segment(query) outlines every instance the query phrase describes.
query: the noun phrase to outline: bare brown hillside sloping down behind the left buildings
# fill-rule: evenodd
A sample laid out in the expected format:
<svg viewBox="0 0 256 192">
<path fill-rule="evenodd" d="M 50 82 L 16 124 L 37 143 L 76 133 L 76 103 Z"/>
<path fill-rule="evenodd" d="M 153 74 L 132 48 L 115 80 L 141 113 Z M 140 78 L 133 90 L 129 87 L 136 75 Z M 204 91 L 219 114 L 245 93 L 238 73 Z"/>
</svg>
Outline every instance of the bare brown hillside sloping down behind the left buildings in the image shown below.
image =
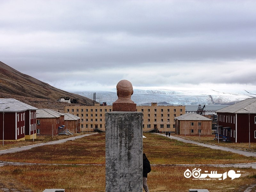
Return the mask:
<svg viewBox="0 0 256 192">
<path fill-rule="evenodd" d="M 75 105 L 57 101 L 64 96 L 79 99 L 78 105 L 93 105 L 93 100 L 87 97 L 57 89 L 0 61 L 0 98 L 14 98 L 36 108 L 63 112 L 65 105 Z"/>
</svg>

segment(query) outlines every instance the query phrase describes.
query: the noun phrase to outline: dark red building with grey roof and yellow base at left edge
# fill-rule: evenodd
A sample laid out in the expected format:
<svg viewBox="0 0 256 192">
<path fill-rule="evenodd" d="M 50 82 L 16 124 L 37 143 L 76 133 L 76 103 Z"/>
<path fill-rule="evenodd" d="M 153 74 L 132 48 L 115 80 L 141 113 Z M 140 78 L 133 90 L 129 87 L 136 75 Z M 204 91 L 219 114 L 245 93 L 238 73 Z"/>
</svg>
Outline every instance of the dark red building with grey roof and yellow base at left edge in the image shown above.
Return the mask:
<svg viewBox="0 0 256 192">
<path fill-rule="evenodd" d="M 0 99 L 0 139 L 36 139 L 36 109 L 15 99 Z M 33 134 L 34 133 L 34 134 Z"/>
</svg>

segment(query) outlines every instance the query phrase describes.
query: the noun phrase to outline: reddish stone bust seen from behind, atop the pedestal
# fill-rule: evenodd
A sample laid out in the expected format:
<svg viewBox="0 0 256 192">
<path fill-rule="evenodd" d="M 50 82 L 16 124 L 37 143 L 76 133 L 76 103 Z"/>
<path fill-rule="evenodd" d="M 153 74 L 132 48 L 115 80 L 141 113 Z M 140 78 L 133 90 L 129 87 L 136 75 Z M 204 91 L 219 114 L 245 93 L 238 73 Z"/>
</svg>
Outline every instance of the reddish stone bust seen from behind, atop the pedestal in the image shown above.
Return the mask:
<svg viewBox="0 0 256 192">
<path fill-rule="evenodd" d="M 130 81 L 119 81 L 116 93 L 118 99 L 113 103 L 113 111 L 136 111 L 136 104 L 131 100 L 133 87 Z"/>
</svg>

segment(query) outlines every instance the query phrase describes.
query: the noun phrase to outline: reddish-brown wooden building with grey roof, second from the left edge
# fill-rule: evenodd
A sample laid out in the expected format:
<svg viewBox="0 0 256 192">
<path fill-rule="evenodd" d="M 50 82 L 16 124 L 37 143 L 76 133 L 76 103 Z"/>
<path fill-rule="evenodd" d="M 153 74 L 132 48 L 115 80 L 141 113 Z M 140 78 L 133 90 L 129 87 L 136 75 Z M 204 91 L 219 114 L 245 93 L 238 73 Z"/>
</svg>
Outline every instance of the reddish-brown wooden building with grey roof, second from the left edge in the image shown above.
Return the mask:
<svg viewBox="0 0 256 192">
<path fill-rule="evenodd" d="M 38 109 L 36 114 L 37 135 L 58 135 L 65 129 L 64 114 L 52 109 Z"/>
</svg>

